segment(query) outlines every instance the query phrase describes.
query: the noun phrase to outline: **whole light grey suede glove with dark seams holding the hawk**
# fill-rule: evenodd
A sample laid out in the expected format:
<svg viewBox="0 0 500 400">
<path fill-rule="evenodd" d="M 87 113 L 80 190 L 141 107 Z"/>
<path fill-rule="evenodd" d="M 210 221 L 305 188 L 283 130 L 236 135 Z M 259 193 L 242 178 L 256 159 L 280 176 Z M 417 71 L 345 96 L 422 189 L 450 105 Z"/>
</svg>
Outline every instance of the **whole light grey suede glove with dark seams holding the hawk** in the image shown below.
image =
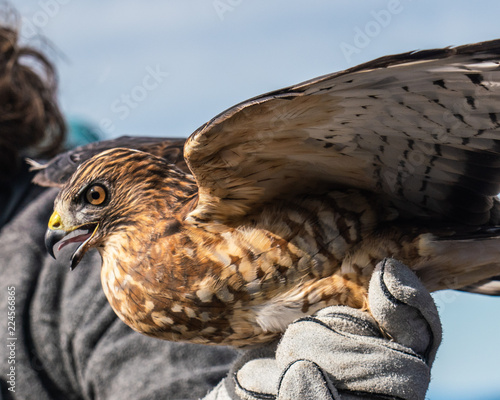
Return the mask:
<svg viewBox="0 0 500 400">
<path fill-rule="evenodd" d="M 408 267 L 379 263 L 367 312 L 327 307 L 280 343 L 247 351 L 205 400 L 420 400 L 441 342 L 432 297 Z"/>
</svg>

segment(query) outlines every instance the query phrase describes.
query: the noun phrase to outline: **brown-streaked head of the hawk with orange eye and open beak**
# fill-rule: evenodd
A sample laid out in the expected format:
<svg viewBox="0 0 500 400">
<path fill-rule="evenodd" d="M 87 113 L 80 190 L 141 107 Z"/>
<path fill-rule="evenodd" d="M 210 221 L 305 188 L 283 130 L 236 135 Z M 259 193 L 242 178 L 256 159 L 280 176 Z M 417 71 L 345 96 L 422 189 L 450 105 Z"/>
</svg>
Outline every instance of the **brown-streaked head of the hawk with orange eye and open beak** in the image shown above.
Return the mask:
<svg viewBox="0 0 500 400">
<path fill-rule="evenodd" d="M 54 203 L 45 244 L 54 256 L 70 243 L 81 243 L 71 258 L 71 269 L 91 247 L 100 247 L 109 234 L 153 223 L 158 212 L 176 212 L 196 193 L 189 175 L 152 154 L 116 148 L 85 163 L 64 185 Z"/>
</svg>

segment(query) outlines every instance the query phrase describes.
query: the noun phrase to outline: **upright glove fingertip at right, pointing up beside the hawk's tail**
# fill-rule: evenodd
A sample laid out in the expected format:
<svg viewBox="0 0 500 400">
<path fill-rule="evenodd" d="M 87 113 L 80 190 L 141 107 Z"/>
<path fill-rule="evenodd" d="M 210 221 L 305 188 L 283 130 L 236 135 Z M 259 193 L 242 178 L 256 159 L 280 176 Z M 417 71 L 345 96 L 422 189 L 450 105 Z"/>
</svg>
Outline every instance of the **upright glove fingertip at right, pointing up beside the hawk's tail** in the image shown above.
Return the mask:
<svg viewBox="0 0 500 400">
<path fill-rule="evenodd" d="M 392 339 L 432 365 L 442 336 L 439 314 L 427 289 L 406 265 L 393 259 L 380 262 L 370 281 L 368 302 Z"/>
</svg>

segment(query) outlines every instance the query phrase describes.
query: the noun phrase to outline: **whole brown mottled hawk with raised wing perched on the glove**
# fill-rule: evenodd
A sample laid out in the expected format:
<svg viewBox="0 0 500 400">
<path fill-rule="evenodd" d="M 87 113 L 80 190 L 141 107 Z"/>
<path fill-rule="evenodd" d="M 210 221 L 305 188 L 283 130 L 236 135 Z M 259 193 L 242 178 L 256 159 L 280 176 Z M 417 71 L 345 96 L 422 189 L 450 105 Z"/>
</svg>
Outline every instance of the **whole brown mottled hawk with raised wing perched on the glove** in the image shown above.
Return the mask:
<svg viewBox="0 0 500 400">
<path fill-rule="evenodd" d="M 182 152 L 183 146 L 183 152 Z M 242 102 L 183 144 L 63 154 L 51 253 L 102 256 L 144 334 L 248 346 L 335 304 L 369 309 L 394 257 L 430 291 L 500 294 L 500 40 L 386 56 Z M 57 245 L 57 246 L 56 246 Z"/>
</svg>

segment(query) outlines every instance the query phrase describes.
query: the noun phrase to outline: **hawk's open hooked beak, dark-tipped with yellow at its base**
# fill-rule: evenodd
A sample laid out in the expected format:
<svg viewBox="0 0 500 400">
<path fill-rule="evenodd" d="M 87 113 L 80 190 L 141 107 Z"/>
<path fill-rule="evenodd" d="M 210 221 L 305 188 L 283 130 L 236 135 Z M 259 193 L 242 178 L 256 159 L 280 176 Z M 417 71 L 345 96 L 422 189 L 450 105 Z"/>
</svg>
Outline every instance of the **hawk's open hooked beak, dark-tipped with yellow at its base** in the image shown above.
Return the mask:
<svg viewBox="0 0 500 400">
<path fill-rule="evenodd" d="M 58 252 L 70 243 L 81 243 L 71 256 L 70 269 L 73 270 L 89 249 L 90 239 L 94 236 L 98 226 L 99 224 L 96 222 L 66 228 L 62 224 L 60 215 L 57 211 L 54 211 L 49 220 L 49 229 L 47 229 L 47 232 L 45 233 L 45 247 L 47 248 L 49 254 L 53 258 L 56 258 L 54 254 L 54 248 L 56 246 L 56 252 Z"/>
</svg>

